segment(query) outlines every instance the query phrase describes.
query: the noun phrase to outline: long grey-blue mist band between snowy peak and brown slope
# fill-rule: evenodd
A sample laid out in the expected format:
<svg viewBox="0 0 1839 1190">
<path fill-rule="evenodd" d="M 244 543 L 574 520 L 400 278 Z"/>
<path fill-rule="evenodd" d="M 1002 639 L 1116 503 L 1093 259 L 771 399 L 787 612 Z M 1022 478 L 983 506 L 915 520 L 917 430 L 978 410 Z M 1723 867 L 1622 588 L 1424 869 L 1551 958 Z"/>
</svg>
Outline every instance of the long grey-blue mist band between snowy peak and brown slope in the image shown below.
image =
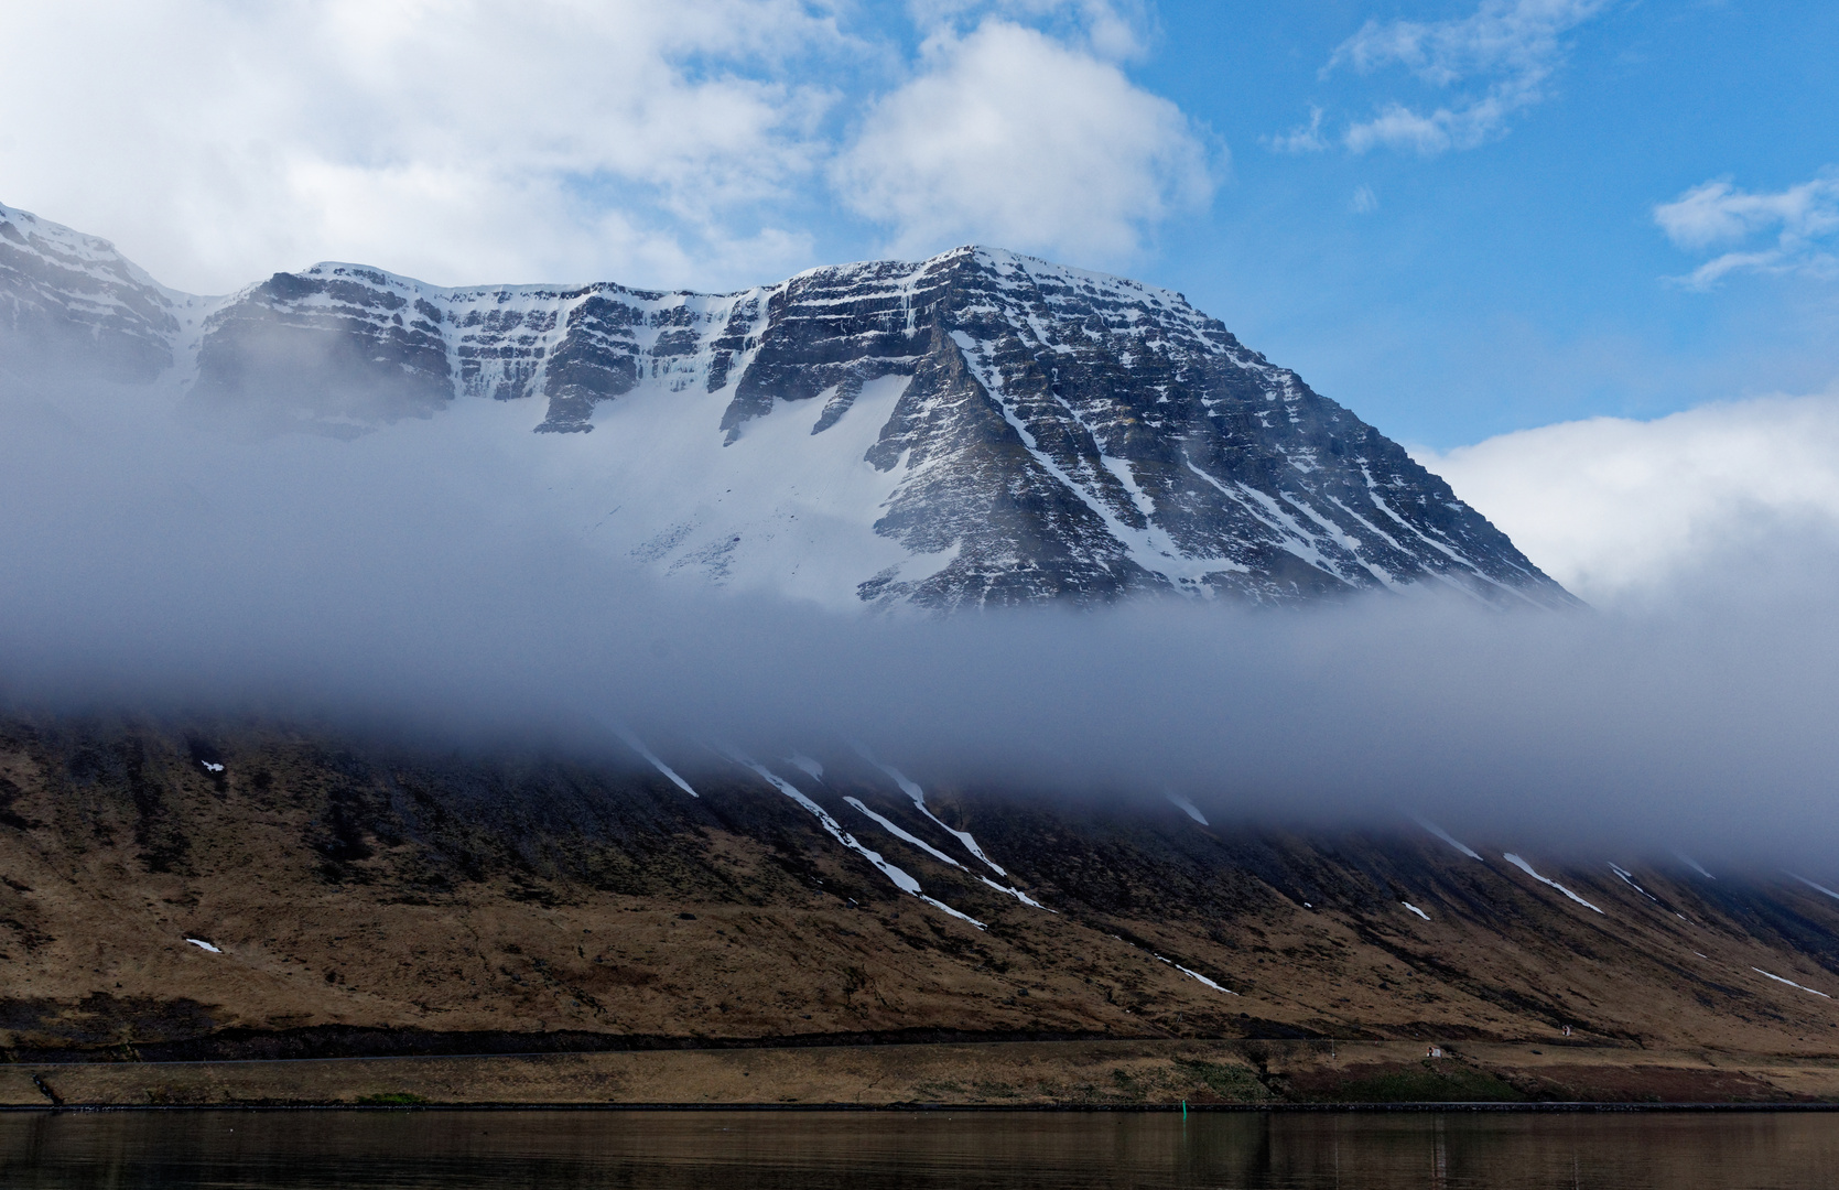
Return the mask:
<svg viewBox="0 0 1839 1190">
<path fill-rule="evenodd" d="M 70 267 L 90 276 L 90 265 Z M 83 309 L 114 316 L 107 285 L 116 281 L 99 278 Z M 68 278 L 59 283 L 70 291 Z M 270 313 L 307 318 L 337 305 L 320 298 L 305 313 L 285 302 Z M 984 348 L 945 340 L 964 370 L 977 359 L 1004 366 Z M 522 399 L 454 397 L 427 418 L 355 419 L 349 436 L 278 432 L 263 418 L 223 416 L 197 386 L 140 375 L 77 383 L 55 359 L 48 368 L 9 351 L 0 401 L 0 682 L 17 704 L 329 715 L 482 747 L 546 739 L 633 763 L 616 725 L 671 756 L 706 745 L 785 756 L 862 741 L 927 778 L 1068 796 L 1173 789 L 1300 822 L 1418 809 L 1458 828 L 1578 846 L 1690 846 L 1749 863 L 1808 864 L 1839 837 L 1830 809 L 1839 627 L 1828 612 L 1839 550 L 1817 533 L 1727 543 L 1640 611 L 1554 614 L 1515 596 L 1506 603 L 1523 611 L 1502 612 L 1473 594 L 1567 600 L 1543 576 L 1523 587 L 1484 581 L 1444 555 L 1445 570 L 1422 572 L 1427 581 L 1374 579 L 1365 585 L 1374 596 L 1313 611 L 1289 600 L 1175 598 L 1100 611 L 1107 600 L 1074 598 L 943 620 L 861 616 L 796 598 L 835 590 L 837 574 L 817 574 L 805 589 L 789 581 L 787 598 L 767 583 L 679 581 L 682 572 L 657 557 L 625 543 L 609 548 L 620 508 L 603 506 L 607 456 L 594 451 L 631 421 L 531 434 Z M 824 434 L 853 432 L 850 418 L 864 403 L 905 401 L 892 390 L 877 397 L 879 384 L 918 384 L 901 379 L 910 362 L 896 368 L 892 355 L 855 360 L 888 372 L 862 379 Z M 171 368 L 180 366 L 175 357 Z M 736 445 L 710 449 L 741 458 L 750 436 L 771 445 L 763 427 L 793 425 L 776 421 L 789 408 L 802 410 L 798 432 L 780 445 L 820 441 L 804 419 L 828 416 L 820 405 L 835 403 L 851 375 L 862 377 L 842 375 L 822 403 L 822 388 L 802 403 L 769 392 L 728 427 L 741 430 Z M 745 405 L 739 381 L 710 394 L 704 379 L 686 392 Z M 554 418 L 555 394 L 548 399 Z M 1346 416 L 1319 397 L 1298 401 L 1298 419 Z M 704 429 L 723 441 L 719 425 Z M 1013 441 L 989 458 L 1004 467 L 1059 458 L 1043 440 L 1024 447 L 1008 414 L 1002 430 Z M 634 441 L 640 465 L 647 445 Z M 864 441 L 883 440 L 868 434 L 851 449 Z M 1330 447 L 1315 458 L 1333 458 Z M 782 458 L 793 462 L 776 478 L 809 478 L 796 456 Z M 1078 482 L 1061 467 L 1054 484 L 1091 495 L 1103 475 L 1118 484 L 1149 475 L 1113 463 L 1120 456 L 1096 456 Z M 923 484 L 938 463 L 901 475 Z M 642 473 L 631 491 L 644 497 L 655 480 Z M 1341 498 L 1333 486 L 1298 491 Z M 1313 497 L 1296 500 L 1296 509 L 1319 508 Z M 1052 509 L 1035 511 L 1037 524 L 1056 524 Z M 712 524 L 726 522 L 712 513 Z M 1341 533 L 1317 528 L 1278 539 L 1302 550 Z M 1076 526 L 1068 533 L 1059 541 L 1079 541 Z M 793 578 L 822 572 L 839 554 L 822 533 L 809 541 L 809 552 L 774 565 Z M 1363 554 L 1365 539 L 1346 541 L 1348 559 L 1376 557 Z M 1133 572 L 1114 561 L 1089 574 L 1122 583 Z M 1526 572 L 1537 576 L 1532 563 Z M 1010 574 L 1035 581 L 1072 570 L 1028 563 Z"/>
</svg>

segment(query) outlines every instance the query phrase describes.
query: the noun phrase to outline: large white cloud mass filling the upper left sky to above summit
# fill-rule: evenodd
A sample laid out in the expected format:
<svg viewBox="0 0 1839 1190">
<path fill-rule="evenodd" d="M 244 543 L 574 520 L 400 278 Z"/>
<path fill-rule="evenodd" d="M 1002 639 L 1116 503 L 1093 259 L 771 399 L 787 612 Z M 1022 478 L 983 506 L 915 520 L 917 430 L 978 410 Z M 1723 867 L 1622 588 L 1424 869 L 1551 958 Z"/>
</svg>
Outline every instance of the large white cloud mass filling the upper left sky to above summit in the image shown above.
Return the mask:
<svg viewBox="0 0 1839 1190">
<path fill-rule="evenodd" d="M 850 0 L 11 6 L 0 199 L 197 292 L 318 259 L 728 289 L 872 234 L 846 210 L 1118 259 L 1206 200 L 1122 70 L 1144 0 L 908 15 L 918 59 Z"/>
</svg>

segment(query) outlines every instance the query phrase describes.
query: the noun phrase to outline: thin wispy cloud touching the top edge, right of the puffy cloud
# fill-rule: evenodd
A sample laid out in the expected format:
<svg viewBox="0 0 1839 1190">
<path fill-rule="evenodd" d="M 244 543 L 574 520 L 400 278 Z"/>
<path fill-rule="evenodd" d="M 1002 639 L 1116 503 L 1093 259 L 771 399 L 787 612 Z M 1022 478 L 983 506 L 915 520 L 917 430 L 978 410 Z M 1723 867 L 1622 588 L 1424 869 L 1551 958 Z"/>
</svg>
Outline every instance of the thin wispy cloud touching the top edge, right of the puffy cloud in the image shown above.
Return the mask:
<svg viewBox="0 0 1839 1190">
<path fill-rule="evenodd" d="M 1460 20 L 1368 20 L 1328 59 L 1322 74 L 1350 66 L 1372 74 L 1403 66 L 1431 86 L 1466 90 L 1431 110 L 1399 101 L 1352 123 L 1342 143 L 1434 156 L 1473 149 L 1506 132 L 1508 118 L 1545 99 L 1547 81 L 1563 63 L 1563 35 L 1596 17 L 1609 0 L 1484 0 Z"/>
</svg>

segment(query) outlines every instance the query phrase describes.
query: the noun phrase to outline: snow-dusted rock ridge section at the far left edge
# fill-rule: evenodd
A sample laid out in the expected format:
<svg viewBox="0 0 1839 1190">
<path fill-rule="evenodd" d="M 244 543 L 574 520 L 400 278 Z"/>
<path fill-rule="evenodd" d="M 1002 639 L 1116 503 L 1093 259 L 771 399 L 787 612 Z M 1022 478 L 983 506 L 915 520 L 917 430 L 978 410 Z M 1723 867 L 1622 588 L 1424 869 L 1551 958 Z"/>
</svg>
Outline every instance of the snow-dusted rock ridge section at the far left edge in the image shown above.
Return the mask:
<svg viewBox="0 0 1839 1190">
<path fill-rule="evenodd" d="M 145 384 L 173 366 L 175 305 L 109 241 L 0 206 L 0 368 Z"/>
</svg>

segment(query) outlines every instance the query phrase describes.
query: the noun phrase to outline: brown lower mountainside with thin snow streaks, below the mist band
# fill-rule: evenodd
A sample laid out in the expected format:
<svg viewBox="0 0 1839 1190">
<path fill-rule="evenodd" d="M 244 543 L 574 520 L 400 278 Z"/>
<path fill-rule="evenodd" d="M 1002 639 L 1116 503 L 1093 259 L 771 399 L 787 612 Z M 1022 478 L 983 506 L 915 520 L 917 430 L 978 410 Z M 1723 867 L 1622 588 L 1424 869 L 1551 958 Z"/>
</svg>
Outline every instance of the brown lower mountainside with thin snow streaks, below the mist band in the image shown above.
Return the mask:
<svg viewBox="0 0 1839 1190">
<path fill-rule="evenodd" d="M 0 725 L 0 1047 L 1839 1037 L 1839 899 L 1780 874 L 669 760 Z"/>
</svg>

